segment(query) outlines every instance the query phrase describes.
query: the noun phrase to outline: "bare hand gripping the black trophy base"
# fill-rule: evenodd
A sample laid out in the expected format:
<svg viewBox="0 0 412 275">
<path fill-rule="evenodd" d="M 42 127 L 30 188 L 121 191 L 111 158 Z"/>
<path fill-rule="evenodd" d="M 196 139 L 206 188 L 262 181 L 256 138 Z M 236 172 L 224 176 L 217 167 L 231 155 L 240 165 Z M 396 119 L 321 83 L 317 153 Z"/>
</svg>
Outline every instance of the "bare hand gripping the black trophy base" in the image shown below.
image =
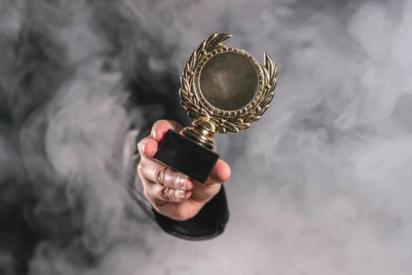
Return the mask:
<svg viewBox="0 0 412 275">
<path fill-rule="evenodd" d="M 180 132 L 183 127 L 177 122 L 159 120 L 152 126 L 152 132 L 139 142 L 141 161 L 137 173 L 144 186 L 144 194 L 153 208 L 170 219 L 190 219 L 210 201 L 230 177 L 226 162 L 218 160 L 206 184 L 200 184 L 190 177 L 156 162 L 153 157 L 169 129 Z"/>
</svg>

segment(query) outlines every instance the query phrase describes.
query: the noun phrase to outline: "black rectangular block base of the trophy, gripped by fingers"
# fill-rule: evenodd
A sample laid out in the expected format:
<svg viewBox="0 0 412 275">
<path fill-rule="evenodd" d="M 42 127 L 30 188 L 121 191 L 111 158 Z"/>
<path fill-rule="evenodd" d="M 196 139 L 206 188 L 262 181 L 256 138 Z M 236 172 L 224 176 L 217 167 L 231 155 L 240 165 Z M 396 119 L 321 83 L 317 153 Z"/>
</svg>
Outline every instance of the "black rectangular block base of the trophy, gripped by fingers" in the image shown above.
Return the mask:
<svg viewBox="0 0 412 275">
<path fill-rule="evenodd" d="M 159 162 L 205 184 L 219 155 L 189 138 L 169 130 L 155 155 Z"/>
</svg>

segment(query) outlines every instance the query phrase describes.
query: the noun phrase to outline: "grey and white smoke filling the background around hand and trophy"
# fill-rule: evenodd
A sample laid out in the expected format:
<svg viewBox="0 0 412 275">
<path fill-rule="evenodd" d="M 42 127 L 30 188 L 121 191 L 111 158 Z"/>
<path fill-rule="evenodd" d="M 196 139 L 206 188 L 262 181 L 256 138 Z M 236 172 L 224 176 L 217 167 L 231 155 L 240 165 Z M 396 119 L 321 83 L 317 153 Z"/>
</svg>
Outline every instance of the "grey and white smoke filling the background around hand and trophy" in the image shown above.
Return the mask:
<svg viewBox="0 0 412 275">
<path fill-rule="evenodd" d="M 411 14 L 407 0 L 0 1 L 0 273 L 409 274 Z M 217 137 L 231 220 L 191 243 L 130 199 L 122 143 L 132 124 L 185 119 L 179 75 L 213 32 L 271 54 L 279 83 L 262 120 Z"/>
</svg>

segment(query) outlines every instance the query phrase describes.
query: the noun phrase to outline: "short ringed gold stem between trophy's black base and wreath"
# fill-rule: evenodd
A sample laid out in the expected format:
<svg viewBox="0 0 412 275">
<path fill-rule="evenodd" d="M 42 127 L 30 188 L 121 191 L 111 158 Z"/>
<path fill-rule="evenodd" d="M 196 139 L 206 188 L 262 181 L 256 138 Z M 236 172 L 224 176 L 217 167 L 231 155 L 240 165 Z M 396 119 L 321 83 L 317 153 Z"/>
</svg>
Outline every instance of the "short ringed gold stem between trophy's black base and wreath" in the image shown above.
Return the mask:
<svg viewBox="0 0 412 275">
<path fill-rule="evenodd" d="M 216 152 L 216 142 L 213 137 L 216 133 L 216 127 L 209 120 L 203 118 L 192 123 L 192 127 L 185 127 L 181 134 L 197 144 Z"/>
</svg>

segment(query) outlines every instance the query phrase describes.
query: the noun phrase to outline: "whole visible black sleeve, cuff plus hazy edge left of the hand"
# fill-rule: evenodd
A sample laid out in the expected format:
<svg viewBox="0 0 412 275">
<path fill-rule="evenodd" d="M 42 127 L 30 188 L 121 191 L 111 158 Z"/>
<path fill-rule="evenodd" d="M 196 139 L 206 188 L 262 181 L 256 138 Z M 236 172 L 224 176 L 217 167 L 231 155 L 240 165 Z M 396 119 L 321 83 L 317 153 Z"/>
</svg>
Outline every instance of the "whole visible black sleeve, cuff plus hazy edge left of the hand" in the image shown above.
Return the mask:
<svg viewBox="0 0 412 275">
<path fill-rule="evenodd" d="M 128 155 L 127 152 L 130 152 L 136 147 L 136 133 L 134 134 L 133 131 L 131 131 L 126 138 L 124 146 L 125 155 Z M 126 159 L 125 162 L 128 163 L 126 173 L 128 174 L 130 190 L 135 201 L 157 222 L 161 229 L 168 234 L 190 241 L 213 239 L 222 234 L 225 230 L 227 221 L 229 220 L 229 210 L 225 188 L 223 186 L 218 194 L 206 203 L 195 217 L 186 221 L 175 221 L 163 216 L 152 208 L 152 205 L 144 195 L 143 185 L 141 184 L 139 177 L 136 175 L 139 159 L 140 157 L 137 153 L 133 155 L 133 157 L 130 155 L 130 160 L 128 161 Z"/>
</svg>

